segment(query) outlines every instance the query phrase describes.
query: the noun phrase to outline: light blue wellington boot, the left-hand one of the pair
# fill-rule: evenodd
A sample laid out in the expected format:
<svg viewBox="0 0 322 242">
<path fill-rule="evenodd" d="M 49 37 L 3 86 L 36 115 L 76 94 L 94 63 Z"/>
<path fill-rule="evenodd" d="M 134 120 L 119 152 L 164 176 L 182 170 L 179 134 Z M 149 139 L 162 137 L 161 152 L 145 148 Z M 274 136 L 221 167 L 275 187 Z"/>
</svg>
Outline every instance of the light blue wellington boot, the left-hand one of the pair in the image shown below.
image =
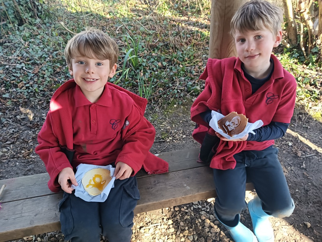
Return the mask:
<svg viewBox="0 0 322 242">
<path fill-rule="evenodd" d="M 216 216 L 218 219 L 218 216 Z M 219 220 L 219 219 L 218 219 Z M 235 242 L 257 242 L 256 236 L 250 229 L 246 228 L 240 221 L 235 227 L 229 227 L 219 220 L 229 231 L 230 236 Z"/>
</svg>

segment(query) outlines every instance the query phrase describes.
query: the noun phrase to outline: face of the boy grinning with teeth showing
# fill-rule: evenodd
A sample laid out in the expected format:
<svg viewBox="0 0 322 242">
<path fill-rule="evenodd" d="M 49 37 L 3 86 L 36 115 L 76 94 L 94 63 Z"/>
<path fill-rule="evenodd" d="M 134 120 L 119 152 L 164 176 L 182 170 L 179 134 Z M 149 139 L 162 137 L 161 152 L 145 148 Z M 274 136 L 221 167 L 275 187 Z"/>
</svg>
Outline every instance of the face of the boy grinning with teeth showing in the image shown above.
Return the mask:
<svg viewBox="0 0 322 242">
<path fill-rule="evenodd" d="M 116 67 L 117 65 L 114 64 L 110 68 L 109 60 L 77 56 L 72 58 L 69 73 L 74 77 L 85 97 L 94 103 L 103 93 L 108 78 L 115 75 Z"/>
</svg>

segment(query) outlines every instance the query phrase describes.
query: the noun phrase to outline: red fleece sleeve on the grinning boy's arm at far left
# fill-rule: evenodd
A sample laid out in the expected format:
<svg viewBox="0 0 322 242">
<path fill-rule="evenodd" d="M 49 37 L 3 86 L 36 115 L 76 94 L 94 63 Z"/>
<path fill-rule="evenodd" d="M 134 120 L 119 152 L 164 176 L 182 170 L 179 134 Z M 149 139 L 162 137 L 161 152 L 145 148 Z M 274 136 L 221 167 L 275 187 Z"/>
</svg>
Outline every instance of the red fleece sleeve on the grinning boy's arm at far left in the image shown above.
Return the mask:
<svg viewBox="0 0 322 242">
<path fill-rule="evenodd" d="M 58 192 L 60 190 L 58 174 L 63 168 L 72 168 L 72 166 L 66 155 L 61 152 L 58 138 L 53 133 L 50 111 L 47 114 L 43 127 L 38 133 L 38 143 L 39 145 L 35 148 L 35 152 L 43 160 L 50 176 L 48 187 L 52 192 Z"/>
</svg>

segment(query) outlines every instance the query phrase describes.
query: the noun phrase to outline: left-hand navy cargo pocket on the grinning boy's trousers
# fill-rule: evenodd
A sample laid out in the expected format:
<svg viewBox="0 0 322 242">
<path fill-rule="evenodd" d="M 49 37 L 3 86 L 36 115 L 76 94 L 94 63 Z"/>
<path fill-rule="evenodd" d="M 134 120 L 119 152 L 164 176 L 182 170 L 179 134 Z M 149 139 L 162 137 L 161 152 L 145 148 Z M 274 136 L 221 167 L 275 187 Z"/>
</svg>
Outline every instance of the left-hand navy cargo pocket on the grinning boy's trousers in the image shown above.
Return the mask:
<svg viewBox="0 0 322 242">
<path fill-rule="evenodd" d="M 59 202 L 58 209 L 60 212 L 60 222 L 62 225 L 62 233 L 67 236 L 71 234 L 74 228 L 74 220 L 71 215 L 71 199 L 70 194 L 65 193 L 62 200 Z"/>
</svg>

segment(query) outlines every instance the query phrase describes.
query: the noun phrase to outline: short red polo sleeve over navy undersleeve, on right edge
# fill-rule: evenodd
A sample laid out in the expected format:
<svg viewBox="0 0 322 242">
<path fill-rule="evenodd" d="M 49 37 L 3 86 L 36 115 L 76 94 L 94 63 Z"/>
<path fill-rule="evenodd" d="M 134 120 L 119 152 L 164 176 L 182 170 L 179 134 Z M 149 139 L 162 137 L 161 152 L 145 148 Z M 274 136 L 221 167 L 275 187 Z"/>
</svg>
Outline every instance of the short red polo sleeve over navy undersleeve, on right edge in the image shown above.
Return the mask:
<svg viewBox="0 0 322 242">
<path fill-rule="evenodd" d="M 290 75 L 290 74 L 289 74 Z M 288 83 L 289 88 L 282 94 L 279 105 L 276 109 L 272 121 L 281 123 L 290 123 L 294 112 L 296 98 L 296 81 L 291 76 L 291 81 Z"/>
</svg>

